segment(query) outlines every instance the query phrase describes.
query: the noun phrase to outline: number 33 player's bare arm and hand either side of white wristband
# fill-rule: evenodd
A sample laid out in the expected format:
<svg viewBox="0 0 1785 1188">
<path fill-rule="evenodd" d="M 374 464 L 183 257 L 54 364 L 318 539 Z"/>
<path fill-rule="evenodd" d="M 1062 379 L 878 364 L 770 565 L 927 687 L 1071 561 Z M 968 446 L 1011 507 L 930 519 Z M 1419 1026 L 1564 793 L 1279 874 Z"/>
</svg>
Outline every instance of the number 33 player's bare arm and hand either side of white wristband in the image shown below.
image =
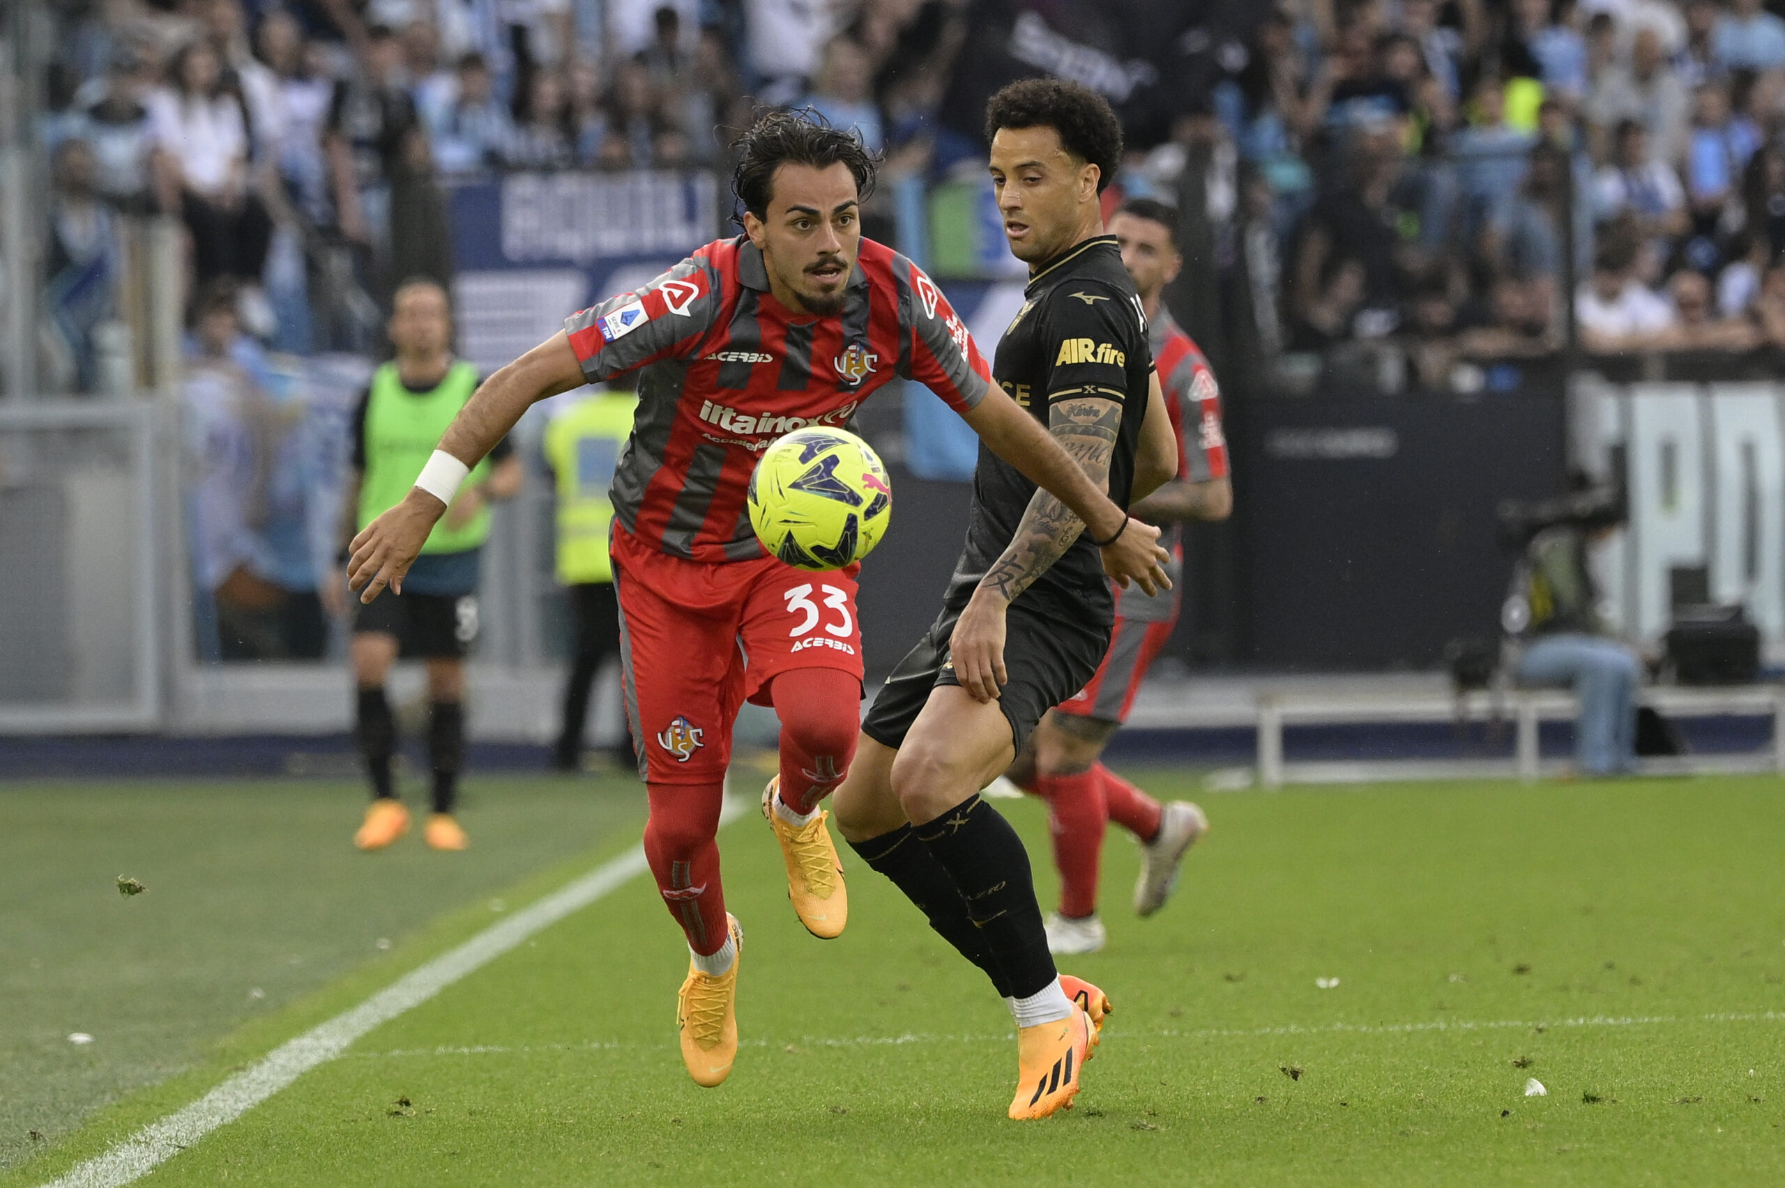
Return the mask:
<svg viewBox="0 0 1785 1188">
<path fill-rule="evenodd" d="M 484 460 L 496 442 L 514 428 L 521 414 L 546 396 L 568 392 L 584 384 L 582 364 L 562 332 L 552 335 L 509 366 L 484 380 L 477 394 L 453 417 L 441 451 L 468 469 Z M 411 487 L 402 503 L 378 516 L 353 537 L 346 564 L 346 583 L 369 603 L 384 587 L 403 592 L 403 574 L 414 564 L 434 524 L 446 514 L 437 496 Z"/>
</svg>

